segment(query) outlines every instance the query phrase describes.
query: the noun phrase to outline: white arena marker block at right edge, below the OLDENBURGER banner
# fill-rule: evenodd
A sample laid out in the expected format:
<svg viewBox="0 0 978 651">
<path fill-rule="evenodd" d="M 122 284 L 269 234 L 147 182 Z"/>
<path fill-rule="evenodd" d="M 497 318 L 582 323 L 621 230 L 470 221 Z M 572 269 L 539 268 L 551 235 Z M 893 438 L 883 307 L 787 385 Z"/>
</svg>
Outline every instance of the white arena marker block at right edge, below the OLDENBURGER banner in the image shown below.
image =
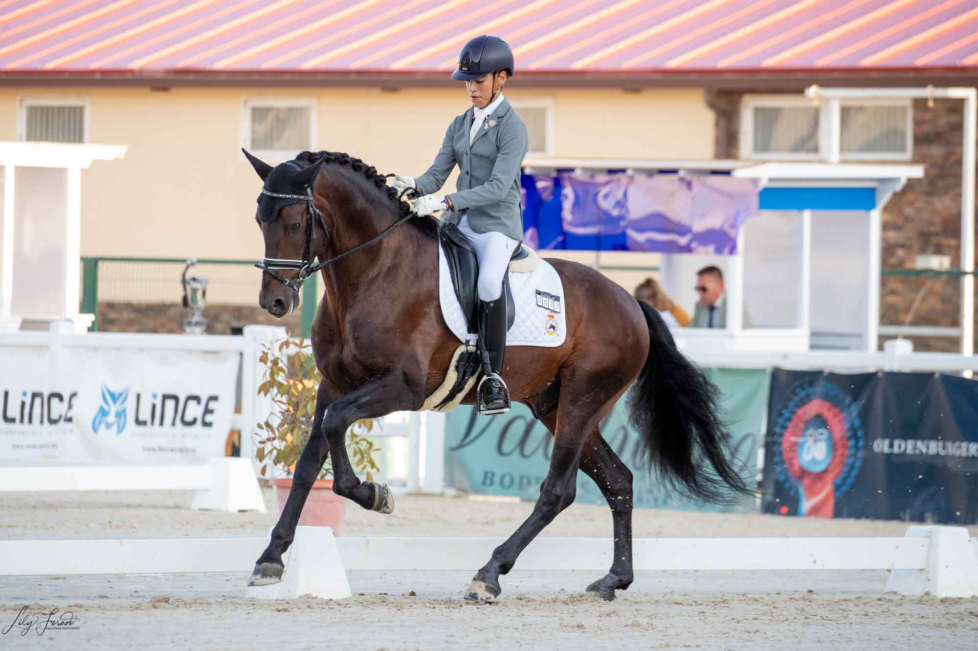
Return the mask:
<svg viewBox="0 0 978 651">
<path fill-rule="evenodd" d="M 938 597 L 978 595 L 978 559 L 963 527 L 913 526 L 907 538 L 929 538 L 927 565 L 921 570 L 894 570 L 887 592 Z"/>
</svg>

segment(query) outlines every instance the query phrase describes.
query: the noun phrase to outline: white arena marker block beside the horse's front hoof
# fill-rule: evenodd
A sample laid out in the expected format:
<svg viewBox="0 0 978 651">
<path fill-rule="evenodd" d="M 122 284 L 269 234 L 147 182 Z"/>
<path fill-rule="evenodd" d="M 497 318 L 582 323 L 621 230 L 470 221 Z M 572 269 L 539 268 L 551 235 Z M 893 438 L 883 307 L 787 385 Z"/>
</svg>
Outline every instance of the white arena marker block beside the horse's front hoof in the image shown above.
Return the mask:
<svg viewBox="0 0 978 651">
<path fill-rule="evenodd" d="M 345 599 L 353 594 L 330 527 L 296 527 L 282 581 L 271 586 L 248 586 L 246 596 L 296 599 L 303 594 L 320 599 Z"/>
</svg>

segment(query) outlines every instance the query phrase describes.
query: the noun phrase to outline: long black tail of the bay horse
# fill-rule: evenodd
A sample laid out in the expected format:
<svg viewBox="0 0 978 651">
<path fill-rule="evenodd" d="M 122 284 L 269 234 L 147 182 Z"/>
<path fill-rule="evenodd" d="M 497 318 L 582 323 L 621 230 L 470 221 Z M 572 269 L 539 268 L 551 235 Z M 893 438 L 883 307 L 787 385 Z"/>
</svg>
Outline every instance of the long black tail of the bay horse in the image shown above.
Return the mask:
<svg viewBox="0 0 978 651">
<path fill-rule="evenodd" d="M 642 455 L 661 481 L 691 498 L 729 503 L 737 494 L 753 495 L 724 454 L 731 437 L 720 418 L 720 389 L 680 352 L 659 313 L 645 301 L 639 305 L 648 357 L 629 410 Z"/>
</svg>

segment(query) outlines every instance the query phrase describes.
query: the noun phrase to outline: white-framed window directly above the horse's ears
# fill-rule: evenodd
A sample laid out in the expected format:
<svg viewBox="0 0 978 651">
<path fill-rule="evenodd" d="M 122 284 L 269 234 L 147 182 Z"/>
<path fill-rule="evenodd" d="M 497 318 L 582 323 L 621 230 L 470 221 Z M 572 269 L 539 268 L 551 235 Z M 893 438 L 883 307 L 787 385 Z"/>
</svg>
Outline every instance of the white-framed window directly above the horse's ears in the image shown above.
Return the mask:
<svg viewBox="0 0 978 651">
<path fill-rule="evenodd" d="M 244 149 L 271 158 L 291 158 L 315 149 L 316 104 L 301 99 L 249 99 L 244 102 Z"/>
</svg>

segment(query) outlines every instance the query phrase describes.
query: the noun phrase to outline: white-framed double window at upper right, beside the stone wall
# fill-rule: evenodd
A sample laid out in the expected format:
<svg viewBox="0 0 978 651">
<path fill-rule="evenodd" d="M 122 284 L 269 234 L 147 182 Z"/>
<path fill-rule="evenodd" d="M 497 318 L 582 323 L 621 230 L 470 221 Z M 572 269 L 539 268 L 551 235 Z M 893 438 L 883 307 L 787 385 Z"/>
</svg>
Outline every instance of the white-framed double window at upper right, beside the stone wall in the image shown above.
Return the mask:
<svg viewBox="0 0 978 651">
<path fill-rule="evenodd" d="M 827 157 L 825 106 L 797 96 L 745 96 L 741 106 L 743 158 L 817 160 Z M 854 100 L 840 105 L 842 160 L 910 160 L 910 100 Z"/>
</svg>

